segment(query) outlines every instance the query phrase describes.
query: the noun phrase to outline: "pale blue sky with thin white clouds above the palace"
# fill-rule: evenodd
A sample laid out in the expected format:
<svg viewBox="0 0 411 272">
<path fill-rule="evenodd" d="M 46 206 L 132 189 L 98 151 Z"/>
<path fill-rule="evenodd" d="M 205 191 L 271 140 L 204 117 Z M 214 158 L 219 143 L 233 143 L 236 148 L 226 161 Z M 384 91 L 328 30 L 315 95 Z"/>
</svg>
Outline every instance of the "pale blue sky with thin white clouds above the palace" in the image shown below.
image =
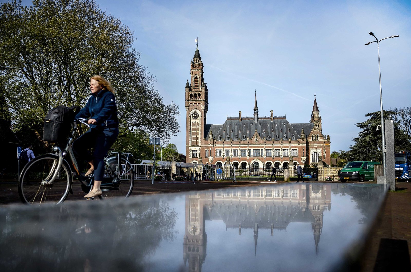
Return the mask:
<svg viewBox="0 0 411 272">
<path fill-rule="evenodd" d="M 29 4 L 30 2 L 23 2 Z M 97 0 L 99 8 L 134 31 L 140 64 L 157 78 L 165 103 L 179 105 L 181 132 L 171 139 L 185 152 L 185 84 L 196 49 L 209 90 L 208 124 L 226 115 L 286 114 L 309 122 L 314 93 L 331 150 L 347 150 L 357 122 L 383 107 L 411 100 L 411 4 L 408 1 L 130 1 Z"/>
</svg>

